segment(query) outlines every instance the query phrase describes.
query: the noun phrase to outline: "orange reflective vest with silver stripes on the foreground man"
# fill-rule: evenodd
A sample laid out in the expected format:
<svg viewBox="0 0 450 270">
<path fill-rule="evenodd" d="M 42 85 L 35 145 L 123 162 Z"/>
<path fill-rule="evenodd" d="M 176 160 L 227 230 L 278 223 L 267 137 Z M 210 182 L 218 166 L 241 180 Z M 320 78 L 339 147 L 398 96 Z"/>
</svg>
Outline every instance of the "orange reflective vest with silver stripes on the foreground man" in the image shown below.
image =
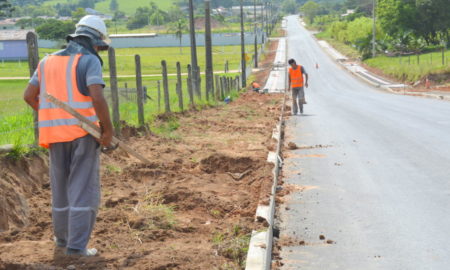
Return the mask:
<svg viewBox="0 0 450 270">
<path fill-rule="evenodd" d="M 70 142 L 88 133 L 79 127 L 79 121 L 43 98 L 47 93 L 67 103 L 81 115 L 97 124 L 98 118 L 92 98 L 80 93 L 77 86 L 76 68 L 81 54 L 69 56 L 50 55 L 38 66 L 40 86 L 39 98 L 39 145 L 49 148 L 50 144 Z"/>
</svg>

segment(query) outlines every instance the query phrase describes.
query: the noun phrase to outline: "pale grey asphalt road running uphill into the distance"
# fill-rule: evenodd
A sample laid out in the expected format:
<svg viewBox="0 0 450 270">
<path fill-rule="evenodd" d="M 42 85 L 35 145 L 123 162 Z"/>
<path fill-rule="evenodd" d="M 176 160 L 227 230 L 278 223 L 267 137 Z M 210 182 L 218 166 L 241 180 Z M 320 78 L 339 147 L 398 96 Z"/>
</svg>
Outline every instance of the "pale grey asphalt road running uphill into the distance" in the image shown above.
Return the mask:
<svg viewBox="0 0 450 270">
<path fill-rule="evenodd" d="M 287 25 L 310 87 L 286 142 L 311 149 L 285 151 L 282 269 L 450 269 L 450 102 L 379 91 Z"/>
</svg>

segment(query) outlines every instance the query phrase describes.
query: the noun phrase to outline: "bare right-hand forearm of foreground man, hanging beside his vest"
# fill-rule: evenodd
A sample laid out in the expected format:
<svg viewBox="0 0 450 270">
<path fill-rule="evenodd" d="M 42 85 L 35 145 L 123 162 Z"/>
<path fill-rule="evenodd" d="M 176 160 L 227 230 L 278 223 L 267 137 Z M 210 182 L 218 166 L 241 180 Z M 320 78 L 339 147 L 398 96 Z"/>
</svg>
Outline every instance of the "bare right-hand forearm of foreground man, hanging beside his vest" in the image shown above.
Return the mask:
<svg viewBox="0 0 450 270">
<path fill-rule="evenodd" d="M 103 86 L 101 84 L 89 85 L 88 90 L 92 98 L 95 113 L 102 125 L 102 135 L 99 141 L 103 146 L 111 146 L 113 126 L 109 116 L 108 103 L 106 103 L 106 99 L 103 96 Z"/>
</svg>

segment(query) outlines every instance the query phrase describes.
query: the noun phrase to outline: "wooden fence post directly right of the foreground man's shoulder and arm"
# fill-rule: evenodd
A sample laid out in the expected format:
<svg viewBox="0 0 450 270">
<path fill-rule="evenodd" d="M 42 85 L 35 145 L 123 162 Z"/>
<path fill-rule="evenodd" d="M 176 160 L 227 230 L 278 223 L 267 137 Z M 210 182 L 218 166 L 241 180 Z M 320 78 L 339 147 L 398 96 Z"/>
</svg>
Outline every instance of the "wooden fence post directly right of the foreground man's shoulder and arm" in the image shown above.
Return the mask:
<svg viewBox="0 0 450 270">
<path fill-rule="evenodd" d="M 108 59 L 113 111 L 112 120 L 114 131 L 116 132 L 117 136 L 120 136 L 119 89 L 117 86 L 116 51 L 113 47 L 109 47 L 108 49 Z"/>
</svg>

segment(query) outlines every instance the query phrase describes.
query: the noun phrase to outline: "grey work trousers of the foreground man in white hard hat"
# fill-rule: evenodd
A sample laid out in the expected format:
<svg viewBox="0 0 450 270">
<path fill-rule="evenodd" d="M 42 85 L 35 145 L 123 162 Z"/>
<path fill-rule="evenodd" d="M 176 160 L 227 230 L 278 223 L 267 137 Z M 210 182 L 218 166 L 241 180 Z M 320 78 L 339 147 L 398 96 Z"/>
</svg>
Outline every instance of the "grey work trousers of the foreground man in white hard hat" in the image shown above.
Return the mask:
<svg viewBox="0 0 450 270">
<path fill-rule="evenodd" d="M 87 135 L 50 145 L 52 218 L 67 248 L 87 247 L 100 204 L 100 147 Z"/>
</svg>

